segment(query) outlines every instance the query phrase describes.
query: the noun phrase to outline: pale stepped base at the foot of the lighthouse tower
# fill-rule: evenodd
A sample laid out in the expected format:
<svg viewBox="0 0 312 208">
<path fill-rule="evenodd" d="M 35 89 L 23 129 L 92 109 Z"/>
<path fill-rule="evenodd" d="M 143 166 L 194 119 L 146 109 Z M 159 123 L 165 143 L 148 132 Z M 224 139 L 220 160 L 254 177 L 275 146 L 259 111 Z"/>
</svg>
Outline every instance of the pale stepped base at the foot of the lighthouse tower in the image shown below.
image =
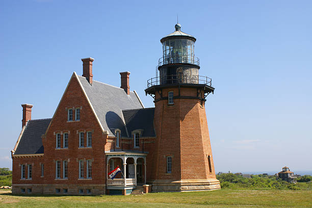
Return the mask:
<svg viewBox="0 0 312 208">
<path fill-rule="evenodd" d="M 153 180 L 152 192 L 212 191 L 221 189 L 220 181 L 212 179 Z"/>
</svg>

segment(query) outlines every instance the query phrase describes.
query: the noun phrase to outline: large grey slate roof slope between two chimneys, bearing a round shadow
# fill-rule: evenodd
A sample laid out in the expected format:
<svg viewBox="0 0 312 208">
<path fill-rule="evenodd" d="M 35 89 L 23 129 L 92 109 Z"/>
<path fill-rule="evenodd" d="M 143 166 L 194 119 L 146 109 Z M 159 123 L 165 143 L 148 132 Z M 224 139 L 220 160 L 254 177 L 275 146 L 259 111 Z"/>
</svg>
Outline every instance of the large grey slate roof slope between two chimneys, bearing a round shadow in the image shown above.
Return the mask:
<svg viewBox="0 0 312 208">
<path fill-rule="evenodd" d="M 122 110 L 143 109 L 137 95 L 132 91 L 127 95 L 122 88 L 94 80 L 90 85 L 86 77 L 79 75 L 77 77 L 104 130 L 109 132 L 109 136 L 114 136 L 115 129 L 119 128 L 121 136 L 127 137 Z M 131 132 L 128 133 L 131 134 Z"/>
</svg>

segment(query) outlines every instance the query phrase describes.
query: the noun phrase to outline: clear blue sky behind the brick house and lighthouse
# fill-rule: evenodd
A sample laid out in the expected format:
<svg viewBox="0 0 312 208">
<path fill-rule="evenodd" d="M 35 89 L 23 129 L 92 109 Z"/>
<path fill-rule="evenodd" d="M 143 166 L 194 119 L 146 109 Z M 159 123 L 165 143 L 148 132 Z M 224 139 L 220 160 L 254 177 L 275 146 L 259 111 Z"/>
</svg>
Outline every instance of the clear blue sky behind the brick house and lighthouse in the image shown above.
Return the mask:
<svg viewBox="0 0 312 208">
<path fill-rule="evenodd" d="M 312 170 L 311 1 L 2 1 L 0 167 L 21 130 L 21 103 L 51 118 L 81 58 L 93 79 L 130 89 L 145 107 L 146 81 L 162 56 L 160 39 L 197 38 L 216 171 Z"/>
</svg>

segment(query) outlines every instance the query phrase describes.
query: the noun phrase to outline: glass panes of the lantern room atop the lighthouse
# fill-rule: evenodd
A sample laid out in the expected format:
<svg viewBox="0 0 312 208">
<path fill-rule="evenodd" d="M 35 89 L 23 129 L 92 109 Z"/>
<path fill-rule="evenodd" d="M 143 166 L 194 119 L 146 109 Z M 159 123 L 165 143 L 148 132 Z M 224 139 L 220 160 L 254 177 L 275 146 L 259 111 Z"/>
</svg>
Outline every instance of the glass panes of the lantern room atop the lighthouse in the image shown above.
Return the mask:
<svg viewBox="0 0 312 208">
<path fill-rule="evenodd" d="M 194 41 L 183 38 L 169 39 L 163 42 L 164 64 L 194 64 Z"/>
</svg>

